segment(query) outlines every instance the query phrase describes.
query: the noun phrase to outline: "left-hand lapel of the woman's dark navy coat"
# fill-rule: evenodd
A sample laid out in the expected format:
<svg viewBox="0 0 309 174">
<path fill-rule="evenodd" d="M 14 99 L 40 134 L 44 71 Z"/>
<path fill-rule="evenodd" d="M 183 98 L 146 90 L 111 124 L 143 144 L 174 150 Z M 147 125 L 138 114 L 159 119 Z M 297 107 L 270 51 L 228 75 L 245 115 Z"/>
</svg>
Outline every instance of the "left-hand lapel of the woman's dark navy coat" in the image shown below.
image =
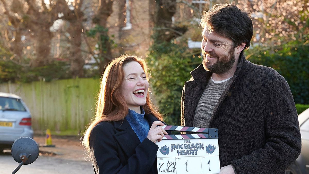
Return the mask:
<svg viewBox="0 0 309 174">
<path fill-rule="evenodd" d="M 115 121 L 114 128 L 119 131 L 115 134 L 116 141 L 118 141 L 122 150 L 129 158 L 135 153 L 135 148 L 141 143 L 141 141 L 131 128 L 127 119 L 123 119 L 123 121 Z"/>
</svg>

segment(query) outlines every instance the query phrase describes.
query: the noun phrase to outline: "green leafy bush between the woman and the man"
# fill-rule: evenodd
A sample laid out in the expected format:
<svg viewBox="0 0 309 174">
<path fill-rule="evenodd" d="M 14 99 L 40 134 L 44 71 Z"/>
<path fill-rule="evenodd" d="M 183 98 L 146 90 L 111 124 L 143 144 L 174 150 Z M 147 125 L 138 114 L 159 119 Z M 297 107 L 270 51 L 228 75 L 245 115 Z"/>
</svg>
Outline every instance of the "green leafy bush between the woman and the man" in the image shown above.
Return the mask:
<svg viewBox="0 0 309 174">
<path fill-rule="evenodd" d="M 191 78 L 190 72 L 201 63 L 185 47 L 163 42 L 150 48 L 146 59 L 150 70 L 150 82 L 156 104 L 170 125 L 180 125 L 180 101 L 184 82 Z M 198 62 L 198 63 L 196 63 Z"/>
</svg>

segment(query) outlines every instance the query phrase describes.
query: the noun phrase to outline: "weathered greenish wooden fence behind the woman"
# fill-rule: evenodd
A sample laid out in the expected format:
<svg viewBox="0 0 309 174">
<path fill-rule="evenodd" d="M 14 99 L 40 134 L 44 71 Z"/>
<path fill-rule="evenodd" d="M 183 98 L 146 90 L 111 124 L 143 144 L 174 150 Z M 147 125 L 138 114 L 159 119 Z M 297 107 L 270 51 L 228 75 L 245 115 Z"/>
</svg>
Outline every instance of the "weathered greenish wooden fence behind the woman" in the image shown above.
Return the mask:
<svg viewBox="0 0 309 174">
<path fill-rule="evenodd" d="M 100 79 L 77 78 L 27 84 L 0 84 L 0 92 L 23 98 L 32 115 L 35 133 L 83 135 L 95 114 Z"/>
</svg>

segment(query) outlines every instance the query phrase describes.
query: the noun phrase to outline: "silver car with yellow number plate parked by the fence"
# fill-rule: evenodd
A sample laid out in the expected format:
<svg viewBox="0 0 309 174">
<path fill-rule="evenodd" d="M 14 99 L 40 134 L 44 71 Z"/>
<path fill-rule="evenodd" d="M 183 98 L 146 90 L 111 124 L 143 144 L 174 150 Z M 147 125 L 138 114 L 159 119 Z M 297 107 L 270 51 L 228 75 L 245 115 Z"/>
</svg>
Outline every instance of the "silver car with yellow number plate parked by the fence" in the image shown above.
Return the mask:
<svg viewBox="0 0 309 174">
<path fill-rule="evenodd" d="M 19 137 L 33 138 L 30 111 L 19 96 L 0 92 L 0 150 Z"/>
</svg>

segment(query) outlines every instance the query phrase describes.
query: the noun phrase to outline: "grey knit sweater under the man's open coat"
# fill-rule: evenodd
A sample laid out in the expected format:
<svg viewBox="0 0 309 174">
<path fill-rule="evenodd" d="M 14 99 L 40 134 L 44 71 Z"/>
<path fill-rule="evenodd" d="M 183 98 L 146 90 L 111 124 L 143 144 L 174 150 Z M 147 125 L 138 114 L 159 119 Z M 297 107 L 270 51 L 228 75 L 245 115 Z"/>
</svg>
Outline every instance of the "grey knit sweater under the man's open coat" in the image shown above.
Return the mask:
<svg viewBox="0 0 309 174">
<path fill-rule="evenodd" d="M 218 103 L 223 91 L 231 83 L 232 79 L 221 83 L 214 83 L 208 80 L 207 86 L 197 104 L 193 126 L 199 128 L 208 128 L 214 108 Z"/>
</svg>

